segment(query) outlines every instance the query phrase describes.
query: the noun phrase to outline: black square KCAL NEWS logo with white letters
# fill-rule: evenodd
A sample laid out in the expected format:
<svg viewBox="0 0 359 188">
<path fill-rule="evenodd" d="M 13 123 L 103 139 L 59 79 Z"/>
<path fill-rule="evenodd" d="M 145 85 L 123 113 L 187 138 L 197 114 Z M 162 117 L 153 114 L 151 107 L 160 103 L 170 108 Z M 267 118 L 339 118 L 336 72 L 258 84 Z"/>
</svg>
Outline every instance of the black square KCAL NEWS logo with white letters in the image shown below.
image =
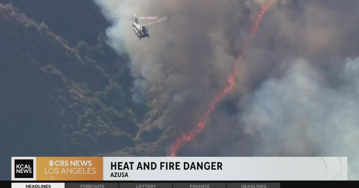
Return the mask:
<svg viewBox="0 0 359 188">
<path fill-rule="evenodd" d="M 14 164 L 15 178 L 34 178 L 33 159 L 15 159 Z"/>
</svg>

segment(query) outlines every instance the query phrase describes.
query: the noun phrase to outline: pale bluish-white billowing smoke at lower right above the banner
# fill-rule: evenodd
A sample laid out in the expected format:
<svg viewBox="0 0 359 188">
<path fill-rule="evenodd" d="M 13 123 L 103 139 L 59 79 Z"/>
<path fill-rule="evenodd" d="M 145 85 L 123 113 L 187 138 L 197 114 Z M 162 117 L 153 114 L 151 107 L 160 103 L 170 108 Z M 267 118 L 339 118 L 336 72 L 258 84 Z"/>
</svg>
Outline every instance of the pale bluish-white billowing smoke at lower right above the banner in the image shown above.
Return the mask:
<svg viewBox="0 0 359 188">
<path fill-rule="evenodd" d="M 240 115 L 260 140 L 253 155 L 348 156 L 349 178 L 358 179 L 359 57 L 346 61 L 338 87 L 303 59 L 291 64 L 262 83 Z"/>
</svg>

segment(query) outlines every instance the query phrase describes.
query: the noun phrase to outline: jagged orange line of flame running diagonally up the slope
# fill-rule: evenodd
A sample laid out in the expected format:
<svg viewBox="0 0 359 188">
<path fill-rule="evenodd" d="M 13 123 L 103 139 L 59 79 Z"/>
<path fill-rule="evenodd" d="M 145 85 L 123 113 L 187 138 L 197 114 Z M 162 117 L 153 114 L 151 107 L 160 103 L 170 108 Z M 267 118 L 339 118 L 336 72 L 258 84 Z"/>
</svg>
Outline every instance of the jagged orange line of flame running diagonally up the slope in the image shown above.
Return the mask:
<svg viewBox="0 0 359 188">
<path fill-rule="evenodd" d="M 248 45 L 252 42 L 252 38 L 253 35 L 255 33 L 258 32 L 259 30 L 259 22 L 260 20 L 263 18 L 263 15 L 266 13 L 266 11 L 268 10 L 268 8 L 271 6 L 271 4 L 274 3 L 274 0 L 270 0 L 267 4 L 265 4 L 262 7 L 261 12 L 258 14 L 253 27 L 251 28 L 251 32 L 250 32 L 250 36 L 247 38 L 246 42 L 243 45 L 243 50 L 241 52 L 241 54 L 239 54 L 239 56 L 237 57 L 237 62 L 236 62 L 236 67 L 234 68 L 232 74 L 230 74 L 229 78 L 228 78 L 228 83 L 229 86 L 226 86 L 215 98 L 214 100 L 210 103 L 208 110 L 206 111 L 206 113 L 203 115 L 202 120 L 197 124 L 197 126 L 195 127 L 194 130 L 192 130 L 191 132 L 188 133 L 183 133 L 182 137 L 179 137 L 176 139 L 176 141 L 174 141 L 170 147 L 171 150 L 171 154 L 168 156 L 177 156 L 177 151 L 180 150 L 183 146 L 183 141 L 191 141 L 197 134 L 199 134 L 201 131 L 203 131 L 206 127 L 207 121 L 209 119 L 209 115 L 214 111 L 215 106 L 217 105 L 217 103 L 228 93 L 230 92 L 235 85 L 235 81 L 236 81 L 236 77 L 238 75 L 238 66 L 237 64 L 239 64 L 242 61 L 242 54 L 244 53 L 244 50 L 246 50 L 248 48 Z"/>
</svg>

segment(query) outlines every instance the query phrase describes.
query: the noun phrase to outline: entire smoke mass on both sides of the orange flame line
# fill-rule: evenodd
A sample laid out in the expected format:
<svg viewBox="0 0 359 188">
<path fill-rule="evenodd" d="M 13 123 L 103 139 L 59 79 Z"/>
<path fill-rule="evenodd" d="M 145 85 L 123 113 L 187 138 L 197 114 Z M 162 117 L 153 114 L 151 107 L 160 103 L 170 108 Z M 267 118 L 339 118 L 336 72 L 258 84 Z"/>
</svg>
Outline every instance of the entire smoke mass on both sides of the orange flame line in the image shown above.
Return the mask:
<svg viewBox="0 0 359 188">
<path fill-rule="evenodd" d="M 266 2 L 95 0 L 112 23 L 108 43 L 131 58 L 133 100 L 145 102 L 152 87 L 169 96 L 158 126 L 174 127 L 172 139 L 228 84 Z M 133 14 L 168 20 L 139 41 Z M 348 156 L 349 178 L 359 179 L 358 33 L 357 0 L 276 1 L 243 54 L 235 89 L 182 154 Z"/>
</svg>

